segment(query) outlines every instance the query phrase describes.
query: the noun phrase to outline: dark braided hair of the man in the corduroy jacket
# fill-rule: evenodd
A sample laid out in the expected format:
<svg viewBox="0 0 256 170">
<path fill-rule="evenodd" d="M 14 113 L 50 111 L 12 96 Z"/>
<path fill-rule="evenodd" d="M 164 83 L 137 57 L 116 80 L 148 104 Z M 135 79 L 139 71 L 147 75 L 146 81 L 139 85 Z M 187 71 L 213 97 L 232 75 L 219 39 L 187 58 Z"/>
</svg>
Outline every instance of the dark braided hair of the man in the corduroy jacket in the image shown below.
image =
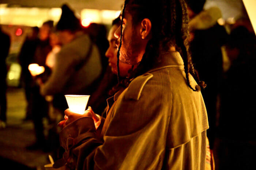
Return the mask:
<svg viewBox="0 0 256 170">
<path fill-rule="evenodd" d="M 127 8 L 127 9 L 126 9 Z M 152 39 L 148 41 L 145 53 L 138 67 L 132 71 L 129 78 L 137 77 L 150 70 L 154 63 L 161 59 L 161 54 L 169 51 L 171 46 L 176 47 L 184 61 L 187 84 L 193 91 L 199 91 L 200 86 L 205 88 L 193 67 L 191 55 L 188 48 L 188 13 L 184 0 L 125 0 L 122 20 L 120 46 L 117 53 L 117 70 L 119 72 L 119 56 L 122 42 L 122 25 L 124 13 L 128 11 L 132 16 L 133 24 L 141 22 L 144 18 L 150 19 L 152 23 Z M 189 73 L 196 79 L 200 86 L 193 89 L 189 82 Z M 119 75 L 119 73 L 118 73 Z M 119 76 L 118 76 L 119 77 Z"/>
</svg>

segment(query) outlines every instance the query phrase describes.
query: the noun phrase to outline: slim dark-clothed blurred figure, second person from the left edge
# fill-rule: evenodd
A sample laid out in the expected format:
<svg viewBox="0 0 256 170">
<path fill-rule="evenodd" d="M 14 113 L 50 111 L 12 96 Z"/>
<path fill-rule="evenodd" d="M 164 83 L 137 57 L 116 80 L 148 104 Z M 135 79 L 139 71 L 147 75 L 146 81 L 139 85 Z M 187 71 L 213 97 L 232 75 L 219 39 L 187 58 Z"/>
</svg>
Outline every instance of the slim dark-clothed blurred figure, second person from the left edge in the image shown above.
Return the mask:
<svg viewBox="0 0 256 170">
<path fill-rule="evenodd" d="M 31 85 L 33 78 L 29 72 L 29 64 L 32 63 L 32 59 L 35 55 L 35 49 L 39 43 L 38 39 L 38 27 L 32 27 L 31 32 L 27 35 L 25 42 L 23 43 L 20 53 L 18 55 L 18 60 L 21 66 L 21 77 L 22 77 L 22 85 L 25 89 L 25 95 L 27 100 L 27 108 L 26 108 L 26 117 L 25 120 L 32 119 L 32 113 L 31 113 Z"/>
</svg>

